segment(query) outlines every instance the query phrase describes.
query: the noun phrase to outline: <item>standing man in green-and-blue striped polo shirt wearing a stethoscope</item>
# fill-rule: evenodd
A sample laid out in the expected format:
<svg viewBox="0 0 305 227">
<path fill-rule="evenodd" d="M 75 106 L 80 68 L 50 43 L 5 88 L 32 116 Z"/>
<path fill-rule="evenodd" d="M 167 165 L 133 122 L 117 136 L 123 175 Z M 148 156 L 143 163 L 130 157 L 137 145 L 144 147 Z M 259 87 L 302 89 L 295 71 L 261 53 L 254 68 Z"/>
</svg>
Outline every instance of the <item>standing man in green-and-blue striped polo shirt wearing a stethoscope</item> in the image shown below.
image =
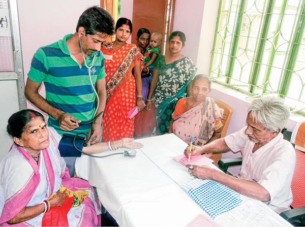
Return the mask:
<svg viewBox="0 0 305 227">
<path fill-rule="evenodd" d="M 89 133 L 88 122 L 104 111 L 106 104 L 104 56 L 101 44 L 113 35 L 114 21 L 100 7 L 85 10 L 78 20 L 76 32 L 56 43 L 41 47 L 35 53 L 25 86 L 25 97 L 42 111 L 48 113 L 48 125 L 59 134 Z M 95 56 L 96 54 L 96 56 Z M 95 56 L 95 57 L 94 57 Z M 96 107 L 96 94 L 100 99 Z M 38 89 L 44 82 L 46 98 Z M 101 137 L 101 115 L 93 125 L 88 144 L 97 143 Z"/>
</svg>

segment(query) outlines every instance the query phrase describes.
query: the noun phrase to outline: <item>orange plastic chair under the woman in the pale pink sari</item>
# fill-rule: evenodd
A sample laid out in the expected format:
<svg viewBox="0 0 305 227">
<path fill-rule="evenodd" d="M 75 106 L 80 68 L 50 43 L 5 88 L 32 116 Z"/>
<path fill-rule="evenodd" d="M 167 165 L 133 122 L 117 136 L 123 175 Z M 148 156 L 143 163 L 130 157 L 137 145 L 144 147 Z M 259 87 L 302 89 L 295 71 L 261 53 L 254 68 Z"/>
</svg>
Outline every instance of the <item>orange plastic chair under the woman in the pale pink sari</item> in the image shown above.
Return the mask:
<svg viewBox="0 0 305 227">
<path fill-rule="evenodd" d="M 224 109 L 223 118 L 221 119 L 223 126 L 221 127 L 221 137 L 220 137 L 220 138 L 223 138 L 227 134 L 233 111 L 227 104 L 225 104 L 219 100 L 214 100 L 214 102 L 217 104 L 217 106 L 219 108 Z M 211 159 L 214 160 L 214 164 L 216 166 L 218 166 L 218 161 L 221 159 L 221 156 L 222 156 L 222 154 L 213 154 L 212 155 Z"/>
</svg>

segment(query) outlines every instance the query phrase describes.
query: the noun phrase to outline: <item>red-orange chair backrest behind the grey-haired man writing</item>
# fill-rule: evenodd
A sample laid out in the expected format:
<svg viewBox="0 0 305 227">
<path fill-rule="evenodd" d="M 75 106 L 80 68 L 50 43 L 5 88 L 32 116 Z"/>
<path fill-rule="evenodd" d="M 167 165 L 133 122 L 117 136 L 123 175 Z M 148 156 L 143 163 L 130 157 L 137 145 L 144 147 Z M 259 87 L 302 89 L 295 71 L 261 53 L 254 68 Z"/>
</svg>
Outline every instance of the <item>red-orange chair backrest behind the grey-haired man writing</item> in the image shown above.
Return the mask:
<svg viewBox="0 0 305 227">
<path fill-rule="evenodd" d="M 295 149 L 296 161 L 291 182 L 293 201 L 292 208 L 305 206 L 305 153 Z"/>
</svg>

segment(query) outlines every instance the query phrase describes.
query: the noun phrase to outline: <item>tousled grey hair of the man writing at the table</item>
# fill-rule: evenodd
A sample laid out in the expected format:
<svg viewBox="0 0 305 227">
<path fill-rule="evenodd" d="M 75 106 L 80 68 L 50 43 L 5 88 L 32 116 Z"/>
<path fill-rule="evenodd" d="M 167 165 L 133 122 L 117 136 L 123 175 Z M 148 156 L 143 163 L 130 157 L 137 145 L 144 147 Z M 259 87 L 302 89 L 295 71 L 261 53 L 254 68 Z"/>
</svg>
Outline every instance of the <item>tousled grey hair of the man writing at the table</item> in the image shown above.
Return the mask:
<svg viewBox="0 0 305 227">
<path fill-rule="evenodd" d="M 248 107 L 250 116 L 256 123 L 264 125 L 268 131 L 281 132 L 290 115 L 290 109 L 284 100 L 265 96 L 253 100 Z"/>
</svg>

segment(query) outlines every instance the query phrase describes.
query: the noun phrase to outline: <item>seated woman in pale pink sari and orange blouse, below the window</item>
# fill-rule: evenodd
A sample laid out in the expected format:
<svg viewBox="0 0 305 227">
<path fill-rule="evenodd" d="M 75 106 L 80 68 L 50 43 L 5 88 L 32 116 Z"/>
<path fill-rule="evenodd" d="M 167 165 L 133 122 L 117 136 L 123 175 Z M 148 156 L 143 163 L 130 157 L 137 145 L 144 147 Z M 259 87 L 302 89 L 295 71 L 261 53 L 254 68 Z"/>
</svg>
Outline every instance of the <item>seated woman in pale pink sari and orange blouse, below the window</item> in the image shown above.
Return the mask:
<svg viewBox="0 0 305 227">
<path fill-rule="evenodd" d="M 191 91 L 191 97 L 182 98 L 177 102 L 172 113 L 169 133 L 174 133 L 188 144 L 193 136 L 193 144 L 202 146 L 220 138 L 224 110 L 215 104 L 214 99 L 207 97 L 211 91 L 211 80 L 208 76 L 195 76 Z"/>
</svg>

